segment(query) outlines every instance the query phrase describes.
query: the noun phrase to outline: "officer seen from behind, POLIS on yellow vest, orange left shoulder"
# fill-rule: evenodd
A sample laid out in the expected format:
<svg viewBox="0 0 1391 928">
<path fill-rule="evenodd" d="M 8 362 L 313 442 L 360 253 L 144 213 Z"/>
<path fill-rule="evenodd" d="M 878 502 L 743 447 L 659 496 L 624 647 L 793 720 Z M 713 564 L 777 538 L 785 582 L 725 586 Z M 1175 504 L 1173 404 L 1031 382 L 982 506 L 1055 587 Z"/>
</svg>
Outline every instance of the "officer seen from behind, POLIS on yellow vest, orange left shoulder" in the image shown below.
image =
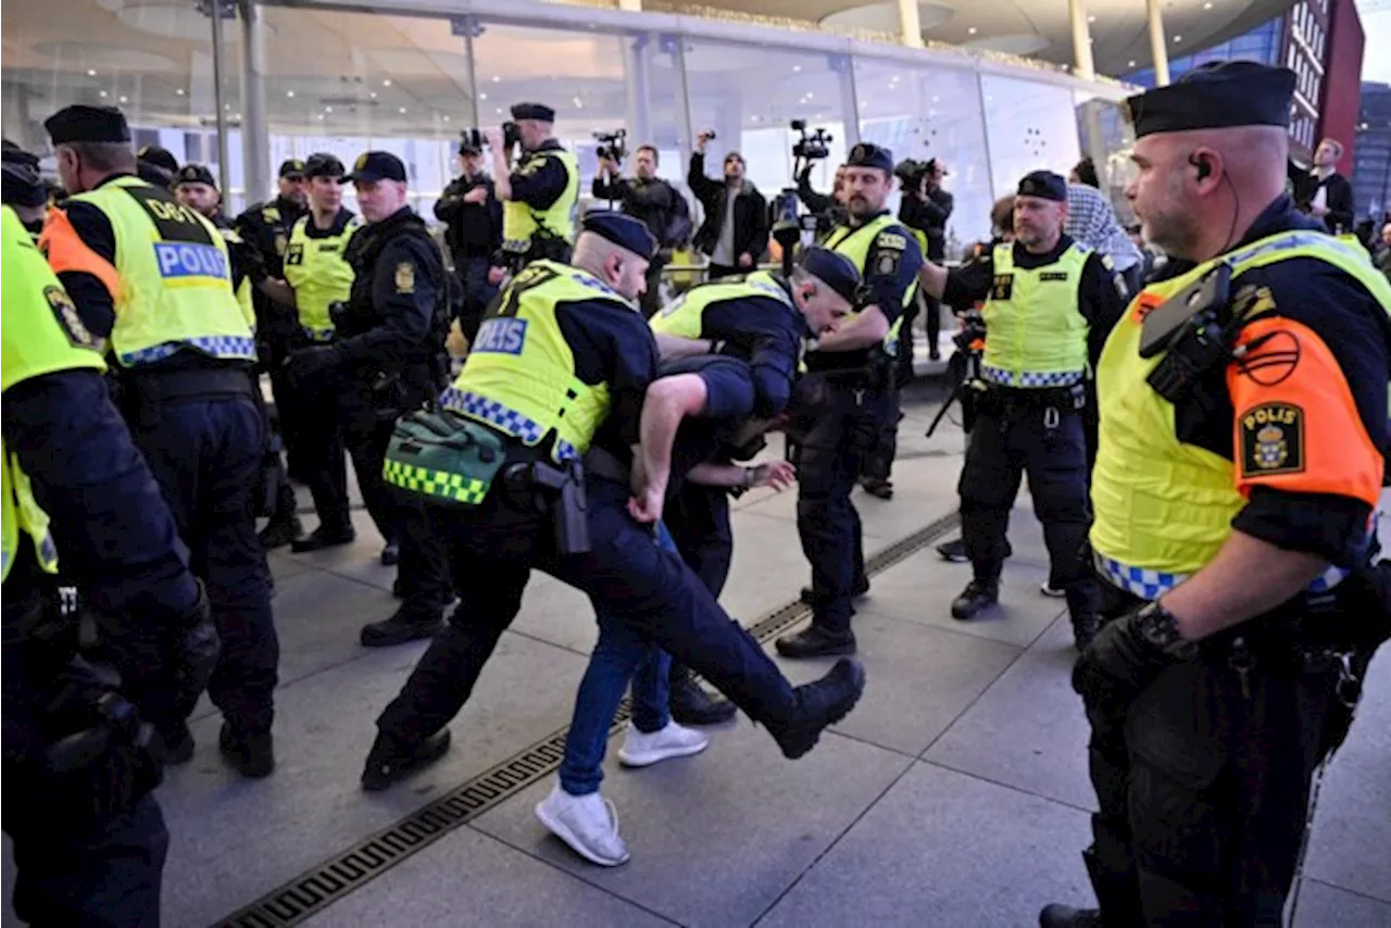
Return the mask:
<svg viewBox="0 0 1391 928">
<path fill-rule="evenodd" d="M 249 498 L 264 429 L 227 245 L 168 191 L 134 177 L 120 110 L 71 106 L 45 127 L 71 196 L 50 216 L 43 248 L 86 328 L 110 341 L 131 434 L 207 583 L 224 646 L 209 685 L 224 717 L 223 753 L 241 774 L 266 776 L 280 644 Z M 184 714 L 153 721 L 171 760 L 188 760 Z"/>
</svg>

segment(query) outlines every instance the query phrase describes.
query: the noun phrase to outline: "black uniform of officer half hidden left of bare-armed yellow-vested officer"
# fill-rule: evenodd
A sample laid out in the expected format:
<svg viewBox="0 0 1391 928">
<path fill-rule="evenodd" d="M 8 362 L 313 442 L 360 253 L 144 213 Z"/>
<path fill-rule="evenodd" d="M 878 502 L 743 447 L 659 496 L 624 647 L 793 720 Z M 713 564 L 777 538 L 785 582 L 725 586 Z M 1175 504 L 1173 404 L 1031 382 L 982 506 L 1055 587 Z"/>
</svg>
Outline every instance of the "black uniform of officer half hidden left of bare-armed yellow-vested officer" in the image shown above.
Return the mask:
<svg viewBox="0 0 1391 928">
<path fill-rule="evenodd" d="M 282 178 L 303 177 L 303 173 L 305 163 L 299 159 L 287 160 L 280 166 Z M 266 274 L 284 280 L 289 232 L 305 213 L 305 206 L 285 196 L 277 196 L 274 200 L 249 207 L 232 221 L 232 228 L 242 241 L 257 250 Z M 306 455 L 302 419 L 296 416 L 299 409 L 284 367 L 299 334 L 299 321 L 294 306 L 278 303 L 259 289 L 252 294 L 252 306 L 256 309 L 256 355 L 262 369 L 270 374 L 270 390 L 275 398 L 275 424 L 285 445 L 285 465 L 291 476 L 303 481 Z M 298 534 L 296 530 L 291 537 Z"/>
</svg>

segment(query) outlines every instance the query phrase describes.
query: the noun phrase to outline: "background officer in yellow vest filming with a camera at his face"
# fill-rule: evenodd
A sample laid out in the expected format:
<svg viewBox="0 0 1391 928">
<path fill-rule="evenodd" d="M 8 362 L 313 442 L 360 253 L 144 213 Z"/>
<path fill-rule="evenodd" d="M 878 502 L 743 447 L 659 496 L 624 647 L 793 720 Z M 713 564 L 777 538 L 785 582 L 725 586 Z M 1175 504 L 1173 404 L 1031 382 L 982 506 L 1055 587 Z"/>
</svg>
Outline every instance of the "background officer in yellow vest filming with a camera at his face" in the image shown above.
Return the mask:
<svg viewBox="0 0 1391 928">
<path fill-rule="evenodd" d="M 505 132 L 490 131 L 492 177 L 502 200 L 502 250 L 494 257 L 490 280 L 540 259 L 570 260 L 574 213 L 580 202 L 580 163 L 551 138 L 555 110 L 540 103 L 512 107 L 522 156 L 508 164 L 512 146 Z"/>
</svg>

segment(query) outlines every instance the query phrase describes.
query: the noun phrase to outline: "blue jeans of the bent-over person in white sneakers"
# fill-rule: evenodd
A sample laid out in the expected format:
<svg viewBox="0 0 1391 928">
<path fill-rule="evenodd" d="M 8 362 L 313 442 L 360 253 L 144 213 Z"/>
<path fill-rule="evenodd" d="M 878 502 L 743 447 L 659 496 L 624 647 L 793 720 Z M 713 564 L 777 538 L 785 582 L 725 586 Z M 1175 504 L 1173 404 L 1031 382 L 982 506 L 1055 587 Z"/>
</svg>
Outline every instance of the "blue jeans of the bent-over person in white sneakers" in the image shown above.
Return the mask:
<svg viewBox="0 0 1391 928">
<path fill-rule="evenodd" d="M 676 543 L 661 522 L 657 523 L 657 544 L 676 551 Z M 672 721 L 668 710 L 670 655 L 604 609 L 597 611 L 597 618 L 600 641 L 574 697 L 574 717 L 565 739 L 565 760 L 561 761 L 561 789 L 570 796 L 598 792 L 609 726 L 629 680 L 633 682 L 633 726 L 637 730 L 651 735 Z"/>
</svg>

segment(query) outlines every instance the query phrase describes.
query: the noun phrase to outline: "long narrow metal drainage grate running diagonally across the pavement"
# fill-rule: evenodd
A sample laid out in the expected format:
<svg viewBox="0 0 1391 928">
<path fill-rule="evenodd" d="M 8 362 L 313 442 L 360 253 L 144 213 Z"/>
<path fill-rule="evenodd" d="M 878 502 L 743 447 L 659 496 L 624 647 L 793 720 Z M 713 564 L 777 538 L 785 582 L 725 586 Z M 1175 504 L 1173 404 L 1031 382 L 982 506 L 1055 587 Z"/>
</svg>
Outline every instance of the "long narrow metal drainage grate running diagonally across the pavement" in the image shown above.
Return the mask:
<svg viewBox="0 0 1391 928">
<path fill-rule="evenodd" d="M 960 516 L 951 513 L 900 538 L 865 562 L 872 576 L 917 554 L 954 529 Z M 800 600 L 782 605 L 750 626 L 759 644 L 768 643 L 811 615 Z M 613 718 L 609 735 L 618 735 L 632 715 L 633 704 L 625 698 Z M 570 728 L 541 739 L 497 767 L 445 793 L 428 806 L 410 813 L 389 828 L 371 835 L 337 857 L 328 858 L 256 902 L 214 922 L 214 928 L 289 928 L 300 925 L 369 881 L 424 850 L 453 829 L 516 796 L 561 767 L 565 737 Z"/>
</svg>

